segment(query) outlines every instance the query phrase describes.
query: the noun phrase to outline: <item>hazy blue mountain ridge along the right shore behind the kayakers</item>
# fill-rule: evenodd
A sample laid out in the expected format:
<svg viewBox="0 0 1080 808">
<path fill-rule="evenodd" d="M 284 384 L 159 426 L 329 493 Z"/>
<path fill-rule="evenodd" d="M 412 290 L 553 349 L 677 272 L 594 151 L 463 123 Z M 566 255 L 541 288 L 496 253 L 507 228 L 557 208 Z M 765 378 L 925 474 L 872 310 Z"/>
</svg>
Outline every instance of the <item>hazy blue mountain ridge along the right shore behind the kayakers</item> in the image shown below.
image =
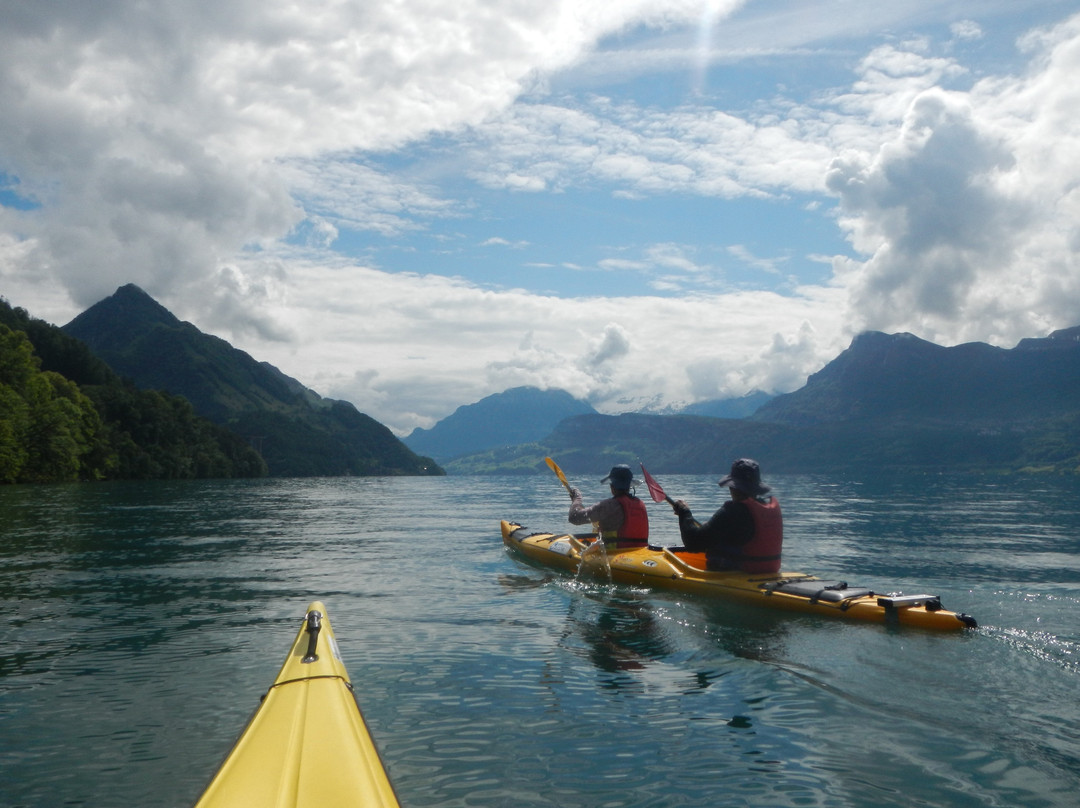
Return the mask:
<svg viewBox="0 0 1080 808">
<path fill-rule="evenodd" d="M 578 473 L 638 458 L 652 472 L 721 473 L 743 456 L 784 472 L 1080 472 L 1080 327 L 1012 349 L 867 332 L 805 387 L 745 418 L 578 415 L 535 443 L 446 467 L 536 473 L 544 456 Z"/>
</svg>

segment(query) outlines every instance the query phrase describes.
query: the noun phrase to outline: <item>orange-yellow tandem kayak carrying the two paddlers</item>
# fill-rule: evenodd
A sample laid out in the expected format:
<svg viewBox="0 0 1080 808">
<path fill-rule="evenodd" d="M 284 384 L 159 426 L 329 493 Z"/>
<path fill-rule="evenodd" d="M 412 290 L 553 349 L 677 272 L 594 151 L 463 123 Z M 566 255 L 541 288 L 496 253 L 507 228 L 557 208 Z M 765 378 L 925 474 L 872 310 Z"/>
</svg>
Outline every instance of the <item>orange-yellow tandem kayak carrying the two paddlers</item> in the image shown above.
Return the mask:
<svg viewBox="0 0 1080 808">
<path fill-rule="evenodd" d="M 616 583 L 723 597 L 765 608 L 801 611 L 849 620 L 917 625 L 923 629 L 974 629 L 969 615 L 948 611 L 937 595 L 878 594 L 801 573 L 750 574 L 706 570 L 704 553 L 677 552 L 649 546 L 611 550 L 595 546 L 595 534 L 536 533 L 502 522 L 503 543 L 526 560 L 545 567 L 608 575 Z M 591 552 L 586 552 L 593 548 Z M 606 554 L 606 564 L 605 564 Z"/>
</svg>

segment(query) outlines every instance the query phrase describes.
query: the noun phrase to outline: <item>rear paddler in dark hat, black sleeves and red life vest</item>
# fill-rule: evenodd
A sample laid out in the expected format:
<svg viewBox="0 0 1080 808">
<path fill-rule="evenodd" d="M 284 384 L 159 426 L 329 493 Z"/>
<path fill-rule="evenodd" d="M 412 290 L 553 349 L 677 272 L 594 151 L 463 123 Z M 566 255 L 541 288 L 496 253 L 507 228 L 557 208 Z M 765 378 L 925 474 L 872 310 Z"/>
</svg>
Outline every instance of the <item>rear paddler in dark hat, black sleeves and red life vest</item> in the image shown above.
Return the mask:
<svg viewBox="0 0 1080 808">
<path fill-rule="evenodd" d="M 720 487 L 731 499 L 705 524 L 698 522 L 681 499 L 672 506 L 687 550 L 705 553 L 706 569 L 741 569 L 746 573 L 779 573 L 784 543 L 780 503 L 761 483 L 761 470 L 748 458 L 731 463 L 731 473 Z"/>
</svg>

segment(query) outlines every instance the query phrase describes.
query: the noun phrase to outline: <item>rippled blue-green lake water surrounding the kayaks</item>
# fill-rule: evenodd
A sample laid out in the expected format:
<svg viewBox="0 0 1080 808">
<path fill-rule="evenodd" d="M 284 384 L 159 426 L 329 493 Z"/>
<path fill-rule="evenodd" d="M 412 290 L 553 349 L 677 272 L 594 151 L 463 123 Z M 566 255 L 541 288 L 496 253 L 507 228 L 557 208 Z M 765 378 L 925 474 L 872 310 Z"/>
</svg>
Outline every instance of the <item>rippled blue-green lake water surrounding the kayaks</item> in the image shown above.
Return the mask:
<svg viewBox="0 0 1080 808">
<path fill-rule="evenodd" d="M 312 600 L 409 808 L 1078 805 L 1080 480 L 769 482 L 785 569 L 980 629 L 535 569 L 499 520 L 565 529 L 549 475 L 0 488 L 0 806 L 191 805 Z"/>
</svg>

